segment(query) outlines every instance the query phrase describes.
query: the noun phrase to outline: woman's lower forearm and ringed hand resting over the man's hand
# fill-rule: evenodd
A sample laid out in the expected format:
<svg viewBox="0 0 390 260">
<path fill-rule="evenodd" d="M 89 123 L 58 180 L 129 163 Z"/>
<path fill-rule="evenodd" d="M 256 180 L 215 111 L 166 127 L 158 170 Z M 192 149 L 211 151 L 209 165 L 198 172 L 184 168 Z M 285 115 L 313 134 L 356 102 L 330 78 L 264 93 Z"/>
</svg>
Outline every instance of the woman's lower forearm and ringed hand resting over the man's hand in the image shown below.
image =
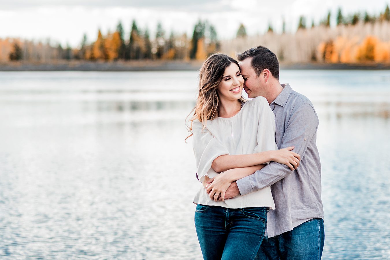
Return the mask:
<svg viewBox="0 0 390 260">
<path fill-rule="evenodd" d="M 212 200 L 217 201 L 221 195 L 222 201 L 225 200 L 225 191 L 235 180 L 239 180 L 254 172 L 261 170 L 265 165 L 255 165 L 243 168 L 234 168 L 218 174 L 216 177 L 209 179 L 206 183 L 206 192 Z"/>
</svg>

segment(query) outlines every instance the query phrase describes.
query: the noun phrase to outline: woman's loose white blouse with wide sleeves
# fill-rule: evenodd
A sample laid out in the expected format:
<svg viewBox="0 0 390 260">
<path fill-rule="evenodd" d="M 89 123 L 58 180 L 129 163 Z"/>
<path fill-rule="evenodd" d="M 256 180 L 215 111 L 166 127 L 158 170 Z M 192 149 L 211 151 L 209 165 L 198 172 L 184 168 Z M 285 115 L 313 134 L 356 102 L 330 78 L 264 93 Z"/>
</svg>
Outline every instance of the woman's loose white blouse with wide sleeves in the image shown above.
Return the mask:
<svg viewBox="0 0 390 260">
<path fill-rule="evenodd" d="M 194 120 L 193 150 L 200 182 L 204 176 L 213 178 L 218 173 L 211 168 L 216 157 L 221 155 L 253 154 L 277 150 L 275 143 L 275 115 L 264 97 L 256 97 L 243 104 L 233 117 L 217 117 L 207 120 L 206 127 Z M 268 162 L 269 163 L 269 162 Z M 271 188 L 266 187 L 246 195 L 238 195 L 224 202 L 211 200 L 203 184 L 193 202 L 230 209 L 243 207 L 270 207 L 275 209 Z"/>
</svg>

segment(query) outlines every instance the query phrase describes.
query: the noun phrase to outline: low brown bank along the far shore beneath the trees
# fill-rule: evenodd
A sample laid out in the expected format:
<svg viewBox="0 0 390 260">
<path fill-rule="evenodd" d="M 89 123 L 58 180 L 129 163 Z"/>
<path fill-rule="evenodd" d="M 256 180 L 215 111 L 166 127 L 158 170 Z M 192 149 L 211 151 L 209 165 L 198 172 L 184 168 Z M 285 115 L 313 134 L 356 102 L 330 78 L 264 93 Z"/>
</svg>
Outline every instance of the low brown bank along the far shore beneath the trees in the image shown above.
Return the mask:
<svg viewBox="0 0 390 260">
<path fill-rule="evenodd" d="M 137 60 L 130 62 L 61 61 L 51 63 L 0 63 L 0 71 L 197 71 L 200 61 Z M 388 70 L 390 64 L 280 63 L 280 69 L 369 69 Z"/>
</svg>

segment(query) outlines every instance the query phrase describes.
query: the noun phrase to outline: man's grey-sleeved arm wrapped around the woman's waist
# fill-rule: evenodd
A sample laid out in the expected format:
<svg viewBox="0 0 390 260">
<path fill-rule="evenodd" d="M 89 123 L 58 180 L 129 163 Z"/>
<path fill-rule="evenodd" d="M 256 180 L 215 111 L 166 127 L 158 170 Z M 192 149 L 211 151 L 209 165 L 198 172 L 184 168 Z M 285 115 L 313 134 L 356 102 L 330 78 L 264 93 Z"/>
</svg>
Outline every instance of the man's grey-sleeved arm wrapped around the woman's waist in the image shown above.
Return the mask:
<svg viewBox="0 0 390 260">
<path fill-rule="evenodd" d="M 314 108 L 310 104 L 303 104 L 291 115 L 280 148 L 294 146 L 294 152 L 300 154 L 302 160 L 310 141 L 317 131 L 317 127 L 318 117 Z M 292 172 L 294 171 L 284 164 L 271 162 L 254 174 L 237 180 L 236 183 L 239 193 L 245 195 L 252 191 L 271 186 Z M 226 194 L 230 194 L 229 189 L 226 191 Z"/>
</svg>

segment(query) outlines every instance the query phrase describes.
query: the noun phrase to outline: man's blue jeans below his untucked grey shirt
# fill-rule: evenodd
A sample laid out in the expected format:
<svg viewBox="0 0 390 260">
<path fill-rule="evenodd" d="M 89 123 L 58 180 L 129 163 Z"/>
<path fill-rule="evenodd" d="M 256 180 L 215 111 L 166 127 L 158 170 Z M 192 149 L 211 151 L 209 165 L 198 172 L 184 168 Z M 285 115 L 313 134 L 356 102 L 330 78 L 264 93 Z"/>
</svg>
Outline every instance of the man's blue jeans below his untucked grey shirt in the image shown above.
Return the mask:
<svg viewBox="0 0 390 260">
<path fill-rule="evenodd" d="M 264 237 L 256 260 L 320 260 L 324 248 L 324 221 L 310 219 L 293 230 Z"/>
</svg>

